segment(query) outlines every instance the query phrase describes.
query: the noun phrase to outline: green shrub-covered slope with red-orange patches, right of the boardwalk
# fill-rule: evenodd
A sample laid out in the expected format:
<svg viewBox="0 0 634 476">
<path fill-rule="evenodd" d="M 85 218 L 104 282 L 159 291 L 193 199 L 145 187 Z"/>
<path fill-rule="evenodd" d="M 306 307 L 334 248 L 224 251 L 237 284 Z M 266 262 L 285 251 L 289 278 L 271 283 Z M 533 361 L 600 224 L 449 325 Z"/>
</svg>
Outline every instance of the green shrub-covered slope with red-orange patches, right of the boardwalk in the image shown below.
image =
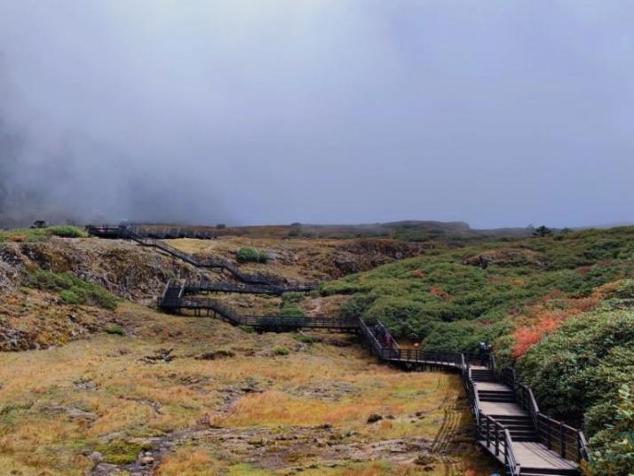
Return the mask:
<svg viewBox="0 0 634 476">
<path fill-rule="evenodd" d="M 480 255 L 486 269 L 472 266 Z M 493 342 L 544 410 L 585 423 L 596 473 L 616 475 L 634 465 L 632 276 L 634 227 L 620 227 L 437 249 L 321 292 L 353 294 L 344 312 L 379 318 L 427 348 Z"/>
</svg>

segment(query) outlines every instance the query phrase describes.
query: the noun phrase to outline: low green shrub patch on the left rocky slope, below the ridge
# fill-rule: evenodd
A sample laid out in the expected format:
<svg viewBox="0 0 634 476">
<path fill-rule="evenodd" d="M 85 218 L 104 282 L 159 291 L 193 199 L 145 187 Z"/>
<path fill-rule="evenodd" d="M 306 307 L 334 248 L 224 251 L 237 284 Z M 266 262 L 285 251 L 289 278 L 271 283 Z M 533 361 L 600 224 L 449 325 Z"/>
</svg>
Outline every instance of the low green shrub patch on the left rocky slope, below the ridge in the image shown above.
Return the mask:
<svg viewBox="0 0 634 476">
<path fill-rule="evenodd" d="M 115 309 L 116 298 L 93 282 L 86 282 L 70 273 L 53 273 L 38 269 L 28 276 L 30 285 L 59 292 L 59 301 L 71 305 L 97 305 L 105 309 Z"/>
</svg>

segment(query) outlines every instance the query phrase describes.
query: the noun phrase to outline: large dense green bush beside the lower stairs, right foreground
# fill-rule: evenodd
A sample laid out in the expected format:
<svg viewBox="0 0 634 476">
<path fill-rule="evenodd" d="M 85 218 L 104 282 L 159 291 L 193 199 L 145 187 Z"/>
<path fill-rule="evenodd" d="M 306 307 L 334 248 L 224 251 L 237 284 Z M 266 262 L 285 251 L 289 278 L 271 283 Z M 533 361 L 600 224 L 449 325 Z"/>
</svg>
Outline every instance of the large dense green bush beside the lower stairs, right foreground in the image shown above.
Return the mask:
<svg viewBox="0 0 634 476">
<path fill-rule="evenodd" d="M 618 476 L 634 467 L 634 311 L 611 307 L 567 320 L 517 367 L 543 411 L 583 424 L 593 474 Z"/>
</svg>

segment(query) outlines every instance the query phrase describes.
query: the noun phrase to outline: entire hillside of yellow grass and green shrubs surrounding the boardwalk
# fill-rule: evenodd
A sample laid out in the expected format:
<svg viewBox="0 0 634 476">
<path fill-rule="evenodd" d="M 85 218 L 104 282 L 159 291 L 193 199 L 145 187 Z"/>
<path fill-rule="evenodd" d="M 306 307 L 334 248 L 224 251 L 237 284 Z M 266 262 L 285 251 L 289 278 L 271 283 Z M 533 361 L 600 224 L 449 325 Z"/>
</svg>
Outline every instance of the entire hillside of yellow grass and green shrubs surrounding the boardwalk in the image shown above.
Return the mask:
<svg viewBox="0 0 634 476">
<path fill-rule="evenodd" d="M 23 352 L 0 353 L 0 462 L 16 474 L 495 469 L 473 443 L 457 377 L 377 366 L 351 337 L 258 335 L 157 313 L 168 280 L 229 276 L 132 242 L 69 230 L 4 237 L 0 350 Z M 432 350 L 473 351 L 486 340 L 544 410 L 583 425 L 592 474 L 627 474 L 632 464 L 632 227 L 462 245 L 244 235 L 169 242 L 234 262 L 257 250 L 266 263 L 241 268 L 321 281 L 310 296 L 221 297 L 243 314 L 359 314 L 384 321 L 401 346 Z M 368 423 L 374 414 L 381 418 Z"/>
</svg>

